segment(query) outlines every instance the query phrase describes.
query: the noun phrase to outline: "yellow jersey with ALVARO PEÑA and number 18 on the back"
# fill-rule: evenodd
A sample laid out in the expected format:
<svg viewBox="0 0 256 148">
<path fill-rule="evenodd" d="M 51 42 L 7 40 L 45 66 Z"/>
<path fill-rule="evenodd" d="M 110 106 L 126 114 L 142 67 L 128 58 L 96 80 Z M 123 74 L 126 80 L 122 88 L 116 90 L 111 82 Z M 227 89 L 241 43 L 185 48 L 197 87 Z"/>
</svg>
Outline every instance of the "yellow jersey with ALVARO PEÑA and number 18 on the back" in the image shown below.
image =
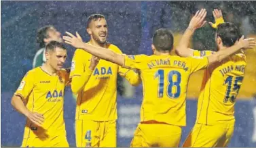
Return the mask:
<svg viewBox="0 0 256 148">
<path fill-rule="evenodd" d="M 141 122 L 156 120 L 185 126 L 185 98 L 189 76 L 207 66 L 207 57 L 124 55 L 124 67 L 141 72 Z"/>
</svg>

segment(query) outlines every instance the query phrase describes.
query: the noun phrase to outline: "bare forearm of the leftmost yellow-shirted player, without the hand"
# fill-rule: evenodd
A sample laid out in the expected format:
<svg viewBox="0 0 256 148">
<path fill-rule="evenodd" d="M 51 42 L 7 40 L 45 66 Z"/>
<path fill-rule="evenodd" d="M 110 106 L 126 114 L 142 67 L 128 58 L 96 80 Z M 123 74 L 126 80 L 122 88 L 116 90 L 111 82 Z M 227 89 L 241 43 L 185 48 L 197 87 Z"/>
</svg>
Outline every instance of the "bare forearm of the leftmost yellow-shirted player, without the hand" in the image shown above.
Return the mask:
<svg viewBox="0 0 256 148">
<path fill-rule="evenodd" d="M 26 116 L 29 113 L 29 110 L 26 109 L 26 106 L 24 105 L 24 102 L 22 101 L 22 98 L 18 95 L 14 95 L 12 97 L 12 106 L 20 113 Z"/>
</svg>

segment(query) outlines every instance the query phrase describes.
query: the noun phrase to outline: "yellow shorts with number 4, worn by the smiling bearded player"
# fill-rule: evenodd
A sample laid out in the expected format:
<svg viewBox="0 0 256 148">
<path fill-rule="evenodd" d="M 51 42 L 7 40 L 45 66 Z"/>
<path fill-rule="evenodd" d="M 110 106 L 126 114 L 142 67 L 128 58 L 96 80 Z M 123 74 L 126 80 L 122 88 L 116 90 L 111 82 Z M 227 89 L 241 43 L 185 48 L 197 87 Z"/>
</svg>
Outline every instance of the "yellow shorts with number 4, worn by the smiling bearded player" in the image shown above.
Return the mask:
<svg viewBox="0 0 256 148">
<path fill-rule="evenodd" d="M 77 147 L 86 147 L 86 131 L 91 130 L 92 147 L 116 147 L 116 121 L 75 120 Z"/>
</svg>

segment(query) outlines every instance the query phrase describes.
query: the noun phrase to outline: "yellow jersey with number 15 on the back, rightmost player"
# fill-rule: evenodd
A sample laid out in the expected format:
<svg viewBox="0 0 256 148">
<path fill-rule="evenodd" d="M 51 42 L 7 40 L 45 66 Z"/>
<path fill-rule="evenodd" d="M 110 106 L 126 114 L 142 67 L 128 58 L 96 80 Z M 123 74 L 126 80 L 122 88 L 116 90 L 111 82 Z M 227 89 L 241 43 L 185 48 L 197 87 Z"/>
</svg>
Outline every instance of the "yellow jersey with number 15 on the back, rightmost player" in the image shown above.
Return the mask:
<svg viewBox="0 0 256 148">
<path fill-rule="evenodd" d="M 194 56 L 203 57 L 213 53 L 194 51 Z M 211 125 L 234 120 L 234 105 L 245 67 L 245 55 L 238 53 L 205 70 L 198 98 L 197 123 Z"/>
</svg>

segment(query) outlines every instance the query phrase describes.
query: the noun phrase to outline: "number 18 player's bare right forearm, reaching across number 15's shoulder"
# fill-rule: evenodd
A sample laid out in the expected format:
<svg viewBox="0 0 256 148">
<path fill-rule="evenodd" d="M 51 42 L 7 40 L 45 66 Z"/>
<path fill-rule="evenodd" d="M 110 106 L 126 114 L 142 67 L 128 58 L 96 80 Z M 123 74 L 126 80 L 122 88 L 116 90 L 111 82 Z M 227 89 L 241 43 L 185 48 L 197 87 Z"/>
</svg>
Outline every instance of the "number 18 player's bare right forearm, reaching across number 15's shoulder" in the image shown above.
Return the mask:
<svg viewBox="0 0 256 148">
<path fill-rule="evenodd" d="M 240 49 L 242 49 L 242 45 L 237 44 L 237 45 L 233 45 L 232 47 L 228 47 L 227 49 L 218 51 L 217 53 L 215 53 L 213 55 L 210 55 L 208 57 L 209 65 L 215 63 L 216 61 L 222 61 L 223 59 L 236 53 Z"/>
</svg>

